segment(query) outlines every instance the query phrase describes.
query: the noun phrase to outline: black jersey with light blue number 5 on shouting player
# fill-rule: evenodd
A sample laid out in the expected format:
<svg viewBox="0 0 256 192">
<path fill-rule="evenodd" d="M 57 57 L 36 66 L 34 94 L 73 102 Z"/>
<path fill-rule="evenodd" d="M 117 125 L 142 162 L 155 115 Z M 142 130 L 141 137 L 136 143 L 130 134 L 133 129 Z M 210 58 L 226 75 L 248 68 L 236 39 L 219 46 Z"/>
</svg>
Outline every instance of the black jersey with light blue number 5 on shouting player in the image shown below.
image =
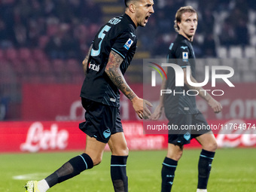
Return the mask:
<svg viewBox="0 0 256 192">
<path fill-rule="evenodd" d="M 105 73 L 108 56 L 113 50 L 123 58 L 120 71 L 124 74 L 136 52 L 136 44 L 136 25 L 128 15 L 114 17 L 102 26 L 93 40 L 81 97 L 118 107 L 120 92 Z"/>
</svg>

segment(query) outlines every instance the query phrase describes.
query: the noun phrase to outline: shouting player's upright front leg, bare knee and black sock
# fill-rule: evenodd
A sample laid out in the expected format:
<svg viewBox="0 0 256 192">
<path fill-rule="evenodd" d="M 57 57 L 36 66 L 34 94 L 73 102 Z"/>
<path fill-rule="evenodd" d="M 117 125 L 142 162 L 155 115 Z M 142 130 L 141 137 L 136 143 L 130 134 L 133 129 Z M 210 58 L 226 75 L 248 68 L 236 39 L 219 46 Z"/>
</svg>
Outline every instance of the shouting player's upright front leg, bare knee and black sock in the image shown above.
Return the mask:
<svg viewBox="0 0 256 192">
<path fill-rule="evenodd" d="M 108 141 L 111 149 L 111 179 L 115 192 L 128 191 L 128 178 L 126 175 L 126 160 L 129 149 L 123 132 L 114 133 Z"/>
</svg>

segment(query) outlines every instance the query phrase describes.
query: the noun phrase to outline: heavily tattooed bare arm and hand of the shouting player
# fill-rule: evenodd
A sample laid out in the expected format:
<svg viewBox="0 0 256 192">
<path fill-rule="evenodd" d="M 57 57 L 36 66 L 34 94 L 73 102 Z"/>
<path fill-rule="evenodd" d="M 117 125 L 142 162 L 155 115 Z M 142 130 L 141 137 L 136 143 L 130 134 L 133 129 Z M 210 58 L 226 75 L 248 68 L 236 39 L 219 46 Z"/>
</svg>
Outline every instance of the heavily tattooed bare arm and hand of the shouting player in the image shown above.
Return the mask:
<svg viewBox="0 0 256 192">
<path fill-rule="evenodd" d="M 123 62 L 123 58 L 111 50 L 108 58 L 108 64 L 105 68 L 105 73 L 111 79 L 111 81 L 117 86 L 117 88 L 123 92 L 123 94 L 133 102 L 133 108 L 138 114 L 138 116 L 142 119 L 148 118 L 151 115 L 151 111 L 148 110 L 146 105 L 150 105 L 151 103 L 139 98 L 136 96 L 136 93 L 129 87 L 126 83 L 122 72 L 120 71 L 120 64 Z"/>
</svg>

